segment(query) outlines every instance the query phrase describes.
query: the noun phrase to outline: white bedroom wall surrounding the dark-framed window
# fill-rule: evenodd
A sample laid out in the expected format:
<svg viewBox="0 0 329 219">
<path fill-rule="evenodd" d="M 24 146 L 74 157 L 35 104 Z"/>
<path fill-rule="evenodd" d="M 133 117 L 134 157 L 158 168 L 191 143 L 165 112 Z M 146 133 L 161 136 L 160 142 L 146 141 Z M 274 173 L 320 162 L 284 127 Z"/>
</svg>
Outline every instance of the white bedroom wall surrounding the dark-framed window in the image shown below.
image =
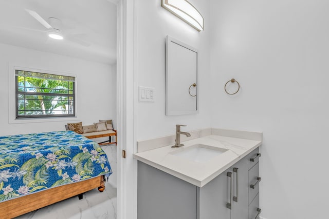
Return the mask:
<svg viewBox="0 0 329 219">
<path fill-rule="evenodd" d="M 64 124 L 76 121 L 9 124 L 9 65 L 35 67 L 77 75 L 78 121 L 83 125 L 99 119 L 116 118 L 115 66 L 61 56 L 22 47 L 0 44 L 0 135 L 65 130 Z M 53 121 L 58 121 L 56 118 Z"/>
</svg>

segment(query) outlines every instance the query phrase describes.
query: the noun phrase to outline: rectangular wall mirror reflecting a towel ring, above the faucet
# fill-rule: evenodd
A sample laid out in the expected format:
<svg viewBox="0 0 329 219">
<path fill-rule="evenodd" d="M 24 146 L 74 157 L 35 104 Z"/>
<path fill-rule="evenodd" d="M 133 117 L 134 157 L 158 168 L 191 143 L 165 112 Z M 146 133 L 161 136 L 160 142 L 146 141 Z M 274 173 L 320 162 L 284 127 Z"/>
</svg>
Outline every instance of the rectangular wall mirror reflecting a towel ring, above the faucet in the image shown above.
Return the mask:
<svg viewBox="0 0 329 219">
<path fill-rule="evenodd" d="M 167 36 L 166 115 L 196 114 L 197 50 Z"/>
</svg>

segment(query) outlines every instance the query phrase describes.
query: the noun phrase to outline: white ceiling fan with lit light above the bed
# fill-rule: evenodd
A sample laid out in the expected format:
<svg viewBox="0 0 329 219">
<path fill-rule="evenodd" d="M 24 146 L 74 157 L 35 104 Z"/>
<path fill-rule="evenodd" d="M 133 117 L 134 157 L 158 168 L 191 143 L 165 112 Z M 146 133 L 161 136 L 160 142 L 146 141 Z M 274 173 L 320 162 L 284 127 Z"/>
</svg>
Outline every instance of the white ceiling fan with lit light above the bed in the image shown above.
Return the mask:
<svg viewBox="0 0 329 219">
<path fill-rule="evenodd" d="M 44 18 L 42 18 L 38 13 L 35 11 L 25 9 L 26 12 L 28 12 L 36 21 L 38 21 L 40 24 L 42 24 L 45 28 L 47 28 L 47 33 L 50 38 L 53 39 L 64 39 L 64 35 L 61 30 L 62 21 L 56 17 L 49 17 L 48 21 L 46 22 Z M 89 47 L 90 43 L 87 43 L 81 39 L 78 39 L 76 37 L 69 36 L 68 34 L 65 35 L 65 39 L 68 41 L 80 44 L 82 46 Z"/>
</svg>

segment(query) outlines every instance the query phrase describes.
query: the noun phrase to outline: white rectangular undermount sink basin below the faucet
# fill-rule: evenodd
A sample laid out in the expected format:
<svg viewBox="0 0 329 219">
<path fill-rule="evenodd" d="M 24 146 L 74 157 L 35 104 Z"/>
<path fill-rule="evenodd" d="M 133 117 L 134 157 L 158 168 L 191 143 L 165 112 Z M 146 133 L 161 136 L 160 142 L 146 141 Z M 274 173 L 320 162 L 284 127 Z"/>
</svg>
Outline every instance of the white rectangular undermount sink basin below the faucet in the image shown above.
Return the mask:
<svg viewBox="0 0 329 219">
<path fill-rule="evenodd" d="M 171 152 L 170 154 L 184 157 L 194 162 L 204 163 L 227 151 L 227 149 L 224 148 L 217 148 L 203 144 L 196 144 L 186 148 L 184 147 L 185 146 L 179 148 L 177 151 Z"/>
</svg>

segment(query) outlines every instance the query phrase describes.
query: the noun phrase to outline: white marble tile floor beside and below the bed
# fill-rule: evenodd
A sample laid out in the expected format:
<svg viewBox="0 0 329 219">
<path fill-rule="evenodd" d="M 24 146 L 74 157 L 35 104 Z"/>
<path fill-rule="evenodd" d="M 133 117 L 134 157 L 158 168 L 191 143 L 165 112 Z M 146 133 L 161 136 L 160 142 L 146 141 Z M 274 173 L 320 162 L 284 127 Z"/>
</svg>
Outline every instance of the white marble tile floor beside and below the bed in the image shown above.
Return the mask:
<svg viewBox="0 0 329 219">
<path fill-rule="evenodd" d="M 105 184 L 105 191 L 97 189 L 15 217 L 15 219 L 116 219 L 117 218 L 117 146 L 102 146 L 113 173 Z M 51 198 L 51 197 L 49 197 Z"/>
</svg>

